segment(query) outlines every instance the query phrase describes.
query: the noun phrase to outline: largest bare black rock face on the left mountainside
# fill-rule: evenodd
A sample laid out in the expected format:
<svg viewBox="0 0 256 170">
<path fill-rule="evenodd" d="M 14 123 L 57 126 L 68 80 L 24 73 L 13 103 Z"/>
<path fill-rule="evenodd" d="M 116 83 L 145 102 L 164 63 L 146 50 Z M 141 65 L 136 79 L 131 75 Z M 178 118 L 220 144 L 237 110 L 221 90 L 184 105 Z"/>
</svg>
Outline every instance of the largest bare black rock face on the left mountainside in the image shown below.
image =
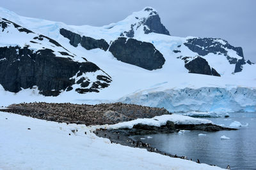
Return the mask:
<svg viewBox="0 0 256 170">
<path fill-rule="evenodd" d="M 56 57 L 50 49 L 34 52 L 27 47 L 5 46 L 0 48 L 0 84 L 4 90 L 19 92 L 21 88 L 37 86 L 44 96 L 58 96 L 61 90 L 71 90 L 74 75 L 100 70 L 92 62 L 74 62 Z M 111 81 L 109 77 L 108 82 Z M 88 81 L 88 80 L 86 80 Z M 106 83 L 99 80 L 100 83 Z M 81 83 L 84 83 L 81 81 Z M 95 83 L 95 82 L 93 82 Z M 78 84 L 78 83 L 77 83 Z M 108 87 L 108 83 L 104 87 Z M 104 88 L 90 87 L 90 91 Z"/>
</svg>

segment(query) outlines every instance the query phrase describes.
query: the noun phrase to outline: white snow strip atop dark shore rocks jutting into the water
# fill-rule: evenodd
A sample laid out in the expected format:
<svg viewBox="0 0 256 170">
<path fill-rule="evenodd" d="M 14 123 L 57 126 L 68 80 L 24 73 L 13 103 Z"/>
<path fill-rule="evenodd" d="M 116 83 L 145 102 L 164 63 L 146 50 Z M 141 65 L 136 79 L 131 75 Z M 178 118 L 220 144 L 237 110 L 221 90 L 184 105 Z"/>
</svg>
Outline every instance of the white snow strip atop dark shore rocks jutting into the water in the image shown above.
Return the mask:
<svg viewBox="0 0 256 170">
<path fill-rule="evenodd" d="M 136 120 L 131 120 L 128 122 L 120 122 L 115 125 L 97 125 L 94 127 L 102 128 L 102 129 L 122 129 L 122 128 L 131 129 L 136 124 L 154 125 L 154 126 L 160 127 L 161 125 L 165 125 L 167 121 L 171 121 L 174 124 L 212 124 L 210 120 L 172 114 L 172 115 L 161 115 L 154 118 L 138 118 Z"/>
</svg>

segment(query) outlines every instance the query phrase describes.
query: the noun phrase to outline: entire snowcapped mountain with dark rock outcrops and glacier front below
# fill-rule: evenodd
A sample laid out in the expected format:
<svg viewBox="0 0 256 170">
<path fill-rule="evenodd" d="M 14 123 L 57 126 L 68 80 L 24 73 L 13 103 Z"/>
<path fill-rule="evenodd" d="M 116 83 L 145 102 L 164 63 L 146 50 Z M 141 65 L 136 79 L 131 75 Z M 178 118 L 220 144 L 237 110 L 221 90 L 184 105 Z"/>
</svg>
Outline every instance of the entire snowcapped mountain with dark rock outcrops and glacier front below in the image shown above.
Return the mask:
<svg viewBox="0 0 256 170">
<path fill-rule="evenodd" d="M 3 8 L 0 17 L 2 105 L 122 101 L 169 111 L 256 111 L 256 66 L 242 48 L 170 36 L 154 8 L 102 27 Z"/>
</svg>

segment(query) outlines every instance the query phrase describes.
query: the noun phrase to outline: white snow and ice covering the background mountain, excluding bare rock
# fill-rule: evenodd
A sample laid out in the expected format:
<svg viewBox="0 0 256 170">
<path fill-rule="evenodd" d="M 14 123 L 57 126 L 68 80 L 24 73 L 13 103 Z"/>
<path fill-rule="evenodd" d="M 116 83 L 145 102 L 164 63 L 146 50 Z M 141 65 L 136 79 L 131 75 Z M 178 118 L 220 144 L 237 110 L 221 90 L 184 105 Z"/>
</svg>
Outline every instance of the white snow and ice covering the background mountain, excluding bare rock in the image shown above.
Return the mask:
<svg viewBox="0 0 256 170">
<path fill-rule="evenodd" d="M 102 27 L 92 27 L 90 25 L 66 25 L 62 22 L 21 17 L 12 11 L 0 8 L 1 17 L 60 42 L 70 53 L 76 54 L 76 60 L 83 60 L 81 57 L 85 57 L 108 73 L 113 80 L 108 88 L 100 90 L 99 93 L 77 94 L 70 91 L 61 92 L 60 96 L 57 97 L 41 96 L 36 89 L 24 89 L 13 94 L 4 91 L 0 85 L 0 95 L 5 97 L 5 100 L 0 101 L 0 105 L 7 106 L 12 103 L 31 101 L 91 104 L 122 101 L 148 106 L 163 106 L 169 111 L 256 111 L 256 74 L 253 74 L 256 73 L 255 64 L 246 63 L 243 65 L 243 71 L 234 73 L 236 64 L 230 64 L 225 53 L 210 52 L 200 57 L 206 59 L 209 66 L 216 69 L 221 77 L 188 73 L 188 69 L 184 67 L 184 60 L 179 57 L 191 57 L 188 59 L 191 60 L 198 56 L 198 53 L 189 50 L 188 46 L 184 45 L 188 39 L 195 37 L 180 38 L 155 32 L 145 34 L 142 22 L 152 15 L 157 15 L 157 11 L 153 8 L 152 11 L 145 11 L 145 9 L 132 13 L 120 22 Z M 80 44 L 74 47 L 70 45 L 69 39 L 60 34 L 60 29 L 64 28 L 81 36 L 90 36 L 95 39 L 103 38 L 111 43 L 122 32 L 129 31 L 131 25 L 136 25 L 134 26 L 134 39 L 152 43 L 163 54 L 166 60 L 163 68 L 148 71 L 117 60 L 108 50 L 106 52 L 99 48 L 86 50 Z M 227 44 L 221 39 L 214 41 L 218 41 L 221 46 Z M 211 46 L 208 47 L 211 48 Z M 204 50 L 204 46 L 200 46 L 200 48 Z M 180 52 L 173 52 L 175 50 Z M 241 59 L 236 51 L 226 47 L 225 49 L 223 47 L 223 50 L 227 50 L 228 56 L 230 55 L 236 60 Z M 184 94 L 186 88 L 195 98 Z M 196 96 L 202 88 L 205 92 Z M 210 93 L 207 92 L 209 89 Z M 223 97 L 218 90 L 224 92 Z M 238 94 L 233 93 L 236 90 L 239 91 Z M 150 97 L 145 97 L 147 94 L 150 94 Z"/>
</svg>

